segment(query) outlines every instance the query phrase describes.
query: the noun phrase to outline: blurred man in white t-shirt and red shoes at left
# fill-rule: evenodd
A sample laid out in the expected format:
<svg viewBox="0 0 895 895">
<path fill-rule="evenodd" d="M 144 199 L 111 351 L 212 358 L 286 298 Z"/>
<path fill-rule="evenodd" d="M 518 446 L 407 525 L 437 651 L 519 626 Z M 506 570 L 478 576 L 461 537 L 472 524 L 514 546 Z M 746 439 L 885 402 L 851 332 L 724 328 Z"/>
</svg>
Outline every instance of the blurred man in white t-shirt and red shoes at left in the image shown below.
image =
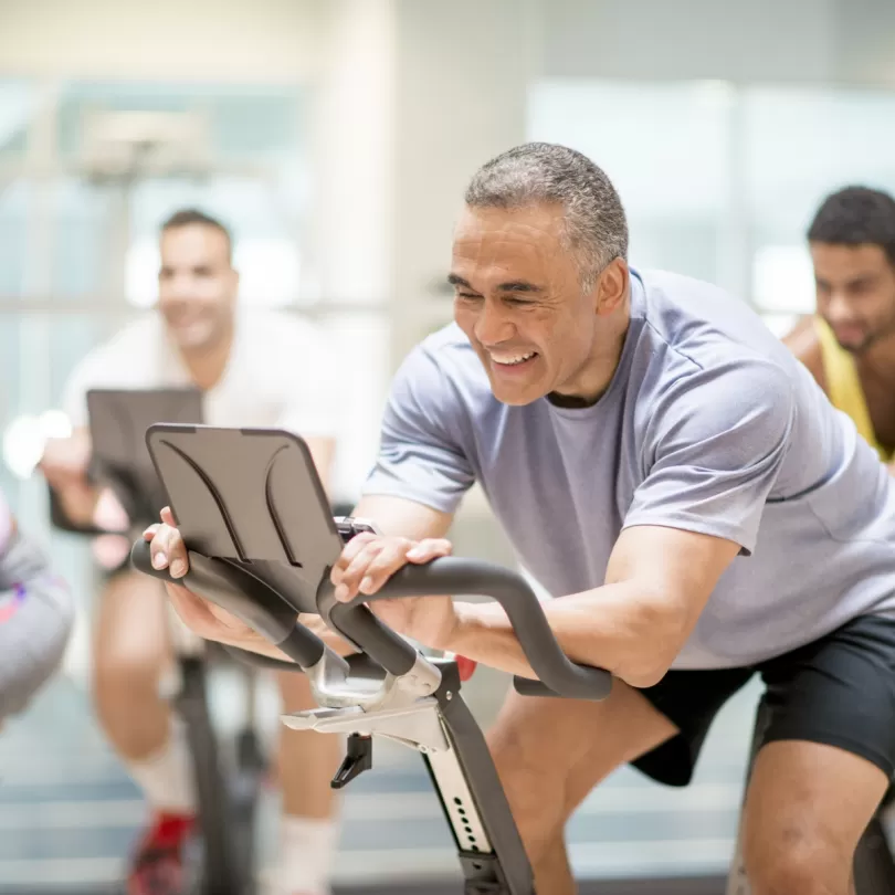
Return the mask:
<svg viewBox="0 0 895 895">
<path fill-rule="evenodd" d="M 98 509 L 99 495 L 85 475 L 92 388 L 193 385 L 204 392 L 207 423 L 299 432 L 324 482 L 331 470 L 334 402 L 314 386 L 326 358 L 319 333 L 294 317 L 238 313 L 230 234 L 199 211 L 180 211 L 162 225 L 160 259 L 158 314 L 127 326 L 78 365 L 64 398 L 73 434 L 50 442 L 41 463 L 76 524 L 95 522 Z M 186 738 L 159 693 L 172 657 L 167 623 L 164 589 L 125 559 L 99 600 L 94 698 L 106 735 L 154 812 L 128 895 L 179 893 L 182 844 L 196 814 Z M 285 710 L 315 705 L 304 675 L 281 674 L 278 684 Z M 336 737 L 280 729 L 284 817 L 275 895 L 324 895 L 337 844 L 329 779 L 340 746 Z"/>
</svg>

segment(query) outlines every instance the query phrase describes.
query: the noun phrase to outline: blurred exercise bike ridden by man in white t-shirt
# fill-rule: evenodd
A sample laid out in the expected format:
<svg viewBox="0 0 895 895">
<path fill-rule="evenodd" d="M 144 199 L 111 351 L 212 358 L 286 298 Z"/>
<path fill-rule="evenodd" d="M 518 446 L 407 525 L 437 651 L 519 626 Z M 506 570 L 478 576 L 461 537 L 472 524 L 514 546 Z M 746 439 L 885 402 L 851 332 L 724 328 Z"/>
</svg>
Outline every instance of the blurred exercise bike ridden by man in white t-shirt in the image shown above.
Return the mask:
<svg viewBox="0 0 895 895">
<path fill-rule="evenodd" d="M 92 439 L 88 475 L 110 488 L 130 519 L 130 540 L 158 522 L 165 492 L 146 451 L 145 433 L 158 420 L 199 422 L 201 392 L 196 389 L 112 390 L 87 393 Z M 51 492 L 53 524 L 83 535 L 106 529 L 73 524 Z M 209 667 L 215 659 L 232 662 L 218 644 L 193 634 L 173 612 L 169 633 L 177 660 L 176 682 L 167 694 L 183 722 L 193 761 L 199 812 L 200 857 L 188 865 L 190 895 L 254 895 L 254 830 L 257 800 L 266 771 L 254 726 L 256 674 L 234 663 L 244 687 L 242 726 L 232 740 L 215 730 L 209 706 Z"/>
</svg>

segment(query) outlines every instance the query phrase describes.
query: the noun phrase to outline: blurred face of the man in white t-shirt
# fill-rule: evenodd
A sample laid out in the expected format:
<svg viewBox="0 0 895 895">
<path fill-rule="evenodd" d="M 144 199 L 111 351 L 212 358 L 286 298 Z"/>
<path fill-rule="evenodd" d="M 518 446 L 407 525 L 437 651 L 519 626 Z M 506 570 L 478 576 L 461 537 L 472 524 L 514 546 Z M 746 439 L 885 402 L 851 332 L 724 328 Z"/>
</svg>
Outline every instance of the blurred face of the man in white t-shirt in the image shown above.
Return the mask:
<svg viewBox="0 0 895 895">
<path fill-rule="evenodd" d="M 161 234 L 158 308 L 178 348 L 213 348 L 229 331 L 239 287 L 227 236 L 208 224 Z"/>
</svg>

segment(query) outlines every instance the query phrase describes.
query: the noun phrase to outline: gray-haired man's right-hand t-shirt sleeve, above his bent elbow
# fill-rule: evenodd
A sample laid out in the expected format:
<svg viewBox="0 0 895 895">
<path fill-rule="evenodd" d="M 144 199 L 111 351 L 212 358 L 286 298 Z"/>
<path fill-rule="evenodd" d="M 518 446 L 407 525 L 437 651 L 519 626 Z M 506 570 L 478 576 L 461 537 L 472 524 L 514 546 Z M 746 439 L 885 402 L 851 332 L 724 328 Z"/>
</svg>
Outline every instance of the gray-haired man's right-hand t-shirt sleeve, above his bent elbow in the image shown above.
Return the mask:
<svg viewBox="0 0 895 895">
<path fill-rule="evenodd" d="M 657 525 L 755 549 L 794 415 L 783 370 L 760 359 L 698 370 L 651 408 L 646 477 L 623 527 Z"/>
</svg>

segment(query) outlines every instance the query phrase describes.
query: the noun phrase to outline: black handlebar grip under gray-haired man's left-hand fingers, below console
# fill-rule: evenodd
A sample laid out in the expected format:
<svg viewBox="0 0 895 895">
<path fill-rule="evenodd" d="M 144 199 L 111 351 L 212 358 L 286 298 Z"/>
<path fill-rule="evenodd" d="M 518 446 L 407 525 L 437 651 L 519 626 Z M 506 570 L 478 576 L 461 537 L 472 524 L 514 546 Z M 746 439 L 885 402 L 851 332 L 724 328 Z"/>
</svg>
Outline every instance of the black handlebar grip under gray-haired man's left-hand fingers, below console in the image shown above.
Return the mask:
<svg viewBox="0 0 895 895">
<path fill-rule="evenodd" d="M 235 615 L 243 624 L 288 652 L 303 668 L 315 665 L 326 646 L 299 624 L 295 610 L 263 581 L 241 566 L 189 551 L 189 571 L 173 578 L 167 569 L 152 567 L 149 541 L 136 540 L 130 562 L 144 575 L 170 585 L 180 585 Z"/>
</svg>

